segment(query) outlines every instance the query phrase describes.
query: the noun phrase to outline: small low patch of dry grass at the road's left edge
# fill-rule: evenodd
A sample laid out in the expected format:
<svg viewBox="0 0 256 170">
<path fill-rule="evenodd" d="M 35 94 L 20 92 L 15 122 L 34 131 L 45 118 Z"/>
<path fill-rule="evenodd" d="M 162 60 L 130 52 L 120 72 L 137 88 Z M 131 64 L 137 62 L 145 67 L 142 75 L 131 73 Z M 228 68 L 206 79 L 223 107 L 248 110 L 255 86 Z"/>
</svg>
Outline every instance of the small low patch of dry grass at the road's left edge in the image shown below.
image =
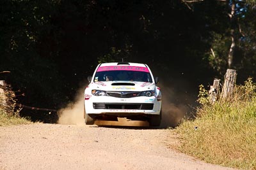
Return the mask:
<svg viewBox="0 0 256 170">
<path fill-rule="evenodd" d="M 0 109 L 0 126 L 31 124 L 32 122 L 18 115 L 10 115 L 5 110 Z"/>
</svg>

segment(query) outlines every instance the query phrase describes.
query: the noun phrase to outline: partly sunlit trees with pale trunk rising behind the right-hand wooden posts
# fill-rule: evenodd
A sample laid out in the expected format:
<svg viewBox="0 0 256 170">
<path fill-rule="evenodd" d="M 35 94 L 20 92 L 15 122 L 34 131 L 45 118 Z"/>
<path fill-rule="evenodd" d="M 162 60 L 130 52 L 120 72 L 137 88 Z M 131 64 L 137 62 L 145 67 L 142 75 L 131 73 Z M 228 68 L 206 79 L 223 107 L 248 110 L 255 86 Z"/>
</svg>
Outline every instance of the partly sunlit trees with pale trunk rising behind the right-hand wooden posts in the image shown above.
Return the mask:
<svg viewBox="0 0 256 170">
<path fill-rule="evenodd" d="M 255 63 L 253 49 L 255 17 L 252 17 L 255 15 L 255 2 L 239 0 L 183 2 L 195 13 L 201 10 L 202 6 L 218 4 L 220 11 L 216 11 L 217 15 L 214 14 L 218 20 L 213 25 L 218 26 L 219 29 L 212 29 L 209 32 L 211 38 L 207 41 L 211 43 L 211 47 L 205 53 L 204 60 L 209 62 L 209 66 L 220 75 L 225 74 L 228 67 L 238 69 L 248 76 L 249 70 L 253 71 L 252 67 Z M 206 16 L 211 15 L 208 13 Z"/>
</svg>

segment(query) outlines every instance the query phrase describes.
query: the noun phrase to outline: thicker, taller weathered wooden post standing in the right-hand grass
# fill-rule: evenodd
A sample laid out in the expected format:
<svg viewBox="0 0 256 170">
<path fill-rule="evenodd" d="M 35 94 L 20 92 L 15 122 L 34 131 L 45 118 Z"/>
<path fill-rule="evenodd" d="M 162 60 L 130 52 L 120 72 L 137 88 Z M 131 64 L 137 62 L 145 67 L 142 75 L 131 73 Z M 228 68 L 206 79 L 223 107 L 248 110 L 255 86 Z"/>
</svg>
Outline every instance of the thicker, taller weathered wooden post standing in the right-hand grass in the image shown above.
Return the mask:
<svg viewBox="0 0 256 170">
<path fill-rule="evenodd" d="M 234 87 L 236 85 L 236 70 L 235 69 L 227 69 L 227 73 L 225 74 L 224 85 L 221 92 L 221 98 L 225 99 L 228 96 L 232 96 L 234 91 Z"/>
</svg>

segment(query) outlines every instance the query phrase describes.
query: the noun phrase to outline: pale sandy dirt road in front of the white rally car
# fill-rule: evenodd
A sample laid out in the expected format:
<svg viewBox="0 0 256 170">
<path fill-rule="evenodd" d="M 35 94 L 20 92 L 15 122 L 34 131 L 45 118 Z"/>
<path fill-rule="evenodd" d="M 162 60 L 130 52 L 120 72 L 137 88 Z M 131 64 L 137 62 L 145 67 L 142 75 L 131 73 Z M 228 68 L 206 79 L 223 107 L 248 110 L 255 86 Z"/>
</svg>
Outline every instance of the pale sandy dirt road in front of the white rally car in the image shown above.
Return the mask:
<svg viewBox="0 0 256 170">
<path fill-rule="evenodd" d="M 175 152 L 177 142 L 168 129 L 0 127 L 0 169 L 228 169 Z"/>
</svg>

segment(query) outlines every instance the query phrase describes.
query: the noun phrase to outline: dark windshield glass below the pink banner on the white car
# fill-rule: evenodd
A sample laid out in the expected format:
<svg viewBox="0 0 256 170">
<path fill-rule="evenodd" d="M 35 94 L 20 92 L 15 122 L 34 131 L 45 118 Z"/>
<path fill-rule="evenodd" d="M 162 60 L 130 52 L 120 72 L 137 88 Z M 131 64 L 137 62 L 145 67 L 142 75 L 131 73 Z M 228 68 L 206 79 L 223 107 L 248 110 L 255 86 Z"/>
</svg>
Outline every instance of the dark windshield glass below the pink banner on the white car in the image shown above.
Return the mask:
<svg viewBox="0 0 256 170">
<path fill-rule="evenodd" d="M 144 71 L 97 71 L 93 81 L 142 81 L 152 82 L 149 72 Z"/>
</svg>

